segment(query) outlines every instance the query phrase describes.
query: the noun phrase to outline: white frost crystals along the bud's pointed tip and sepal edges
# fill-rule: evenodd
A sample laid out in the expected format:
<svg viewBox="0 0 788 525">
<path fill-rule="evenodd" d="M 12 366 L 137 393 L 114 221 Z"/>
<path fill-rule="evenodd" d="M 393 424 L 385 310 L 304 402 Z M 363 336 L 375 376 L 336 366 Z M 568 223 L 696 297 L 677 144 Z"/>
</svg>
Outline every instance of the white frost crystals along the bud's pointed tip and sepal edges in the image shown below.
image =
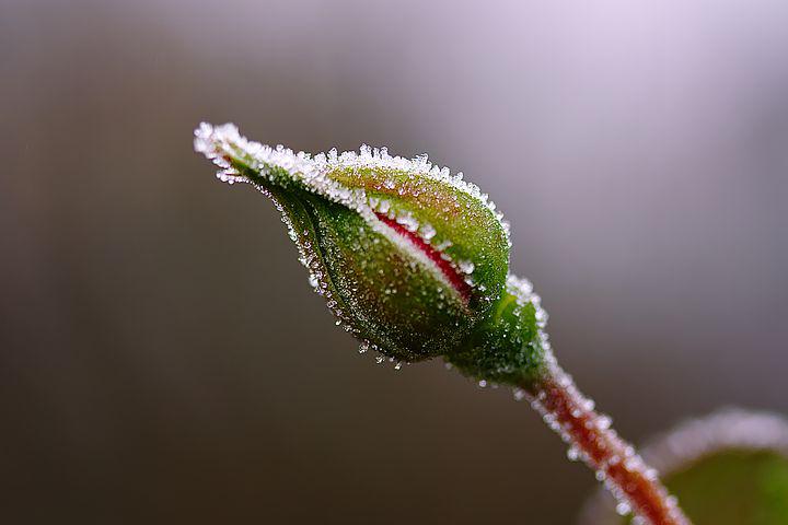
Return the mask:
<svg viewBox="0 0 788 525">
<path fill-rule="evenodd" d="M 384 235 L 389 241 L 394 243 L 395 246 L 405 250 L 413 258 L 418 260 L 434 276 L 436 279 L 456 294 L 460 292 L 452 285 L 440 268 L 438 268 L 421 249 L 419 249 L 409 238 L 405 238 L 394 229 L 378 219 L 375 211 L 380 213 L 389 212 L 390 203 L 387 200 L 368 198 L 363 189 L 350 189 L 328 177 L 327 174 L 335 170 L 360 167 L 387 168 L 404 171 L 413 175 L 448 183 L 452 187 L 468 194 L 487 206 L 493 215 L 500 222 L 506 234 L 507 244 L 511 246 L 511 242 L 509 240 L 509 224 L 503 221 L 501 213 L 495 210 L 495 205 L 488 200 L 487 195 L 482 194 L 476 185 L 463 180 L 462 174 L 451 176 L 448 167 L 440 168 L 432 165 L 428 162 L 427 155 L 420 155 L 416 159 L 408 160 L 402 156 L 390 155 L 386 148 L 371 149 L 368 145 L 362 145 L 359 153 L 344 152 L 339 154 L 336 149 L 333 149 L 327 154 L 321 153 L 312 158 L 309 153 L 296 153 L 282 145 L 271 148 L 269 145 L 260 144 L 259 142 L 247 140 L 239 133 L 235 125 L 224 124 L 213 127 L 207 122 L 200 124 L 200 126 L 195 130 L 194 148 L 195 151 L 202 153 L 217 166 L 221 167 L 221 171 L 217 173 L 217 177 L 229 184 L 247 183 L 248 180 L 246 177 L 241 176 L 241 174 L 232 167 L 228 158 L 241 158 L 245 163 L 248 163 L 250 168 L 259 173 L 260 176 L 269 177 L 271 179 L 276 176 L 276 168 L 285 170 L 293 180 L 301 182 L 304 187 L 311 191 L 357 211 L 375 232 Z M 258 189 L 268 194 L 264 190 L 264 188 L 258 187 Z M 268 197 L 271 196 L 268 195 Z M 278 203 L 277 207 L 281 211 L 281 207 Z M 428 244 L 436 235 L 436 231 L 431 225 L 419 225 L 418 221 L 416 221 L 410 213 L 403 213 L 393 219 L 404 225 L 408 231 L 418 234 Z M 283 215 L 282 221 L 288 224 L 288 229 L 291 232 L 290 234 L 293 236 L 293 229 L 289 219 Z M 294 234 L 294 237 L 302 238 L 299 234 Z M 302 252 L 302 262 L 304 262 L 304 266 L 310 268 L 311 271 L 314 271 L 309 264 L 310 259 L 314 259 L 314 253 L 309 247 L 304 248 L 304 246 L 302 246 L 303 242 L 305 241 L 298 243 L 299 248 Z M 441 256 L 445 260 L 449 260 L 455 269 L 463 271 L 464 273 L 473 271 L 472 262 L 464 262 L 465 270 L 463 270 L 463 268 L 461 268 L 456 262 L 452 261 L 448 254 L 442 252 L 449 245 L 451 245 L 450 242 L 444 242 L 441 243 L 440 247 L 433 247 L 441 252 Z M 471 271 L 466 271 L 468 267 L 471 268 Z M 316 281 L 323 280 L 320 278 L 315 279 L 313 276 L 313 278 L 311 278 L 311 282 Z M 318 289 L 318 292 L 325 293 L 325 290 L 321 291 Z"/>
</svg>

